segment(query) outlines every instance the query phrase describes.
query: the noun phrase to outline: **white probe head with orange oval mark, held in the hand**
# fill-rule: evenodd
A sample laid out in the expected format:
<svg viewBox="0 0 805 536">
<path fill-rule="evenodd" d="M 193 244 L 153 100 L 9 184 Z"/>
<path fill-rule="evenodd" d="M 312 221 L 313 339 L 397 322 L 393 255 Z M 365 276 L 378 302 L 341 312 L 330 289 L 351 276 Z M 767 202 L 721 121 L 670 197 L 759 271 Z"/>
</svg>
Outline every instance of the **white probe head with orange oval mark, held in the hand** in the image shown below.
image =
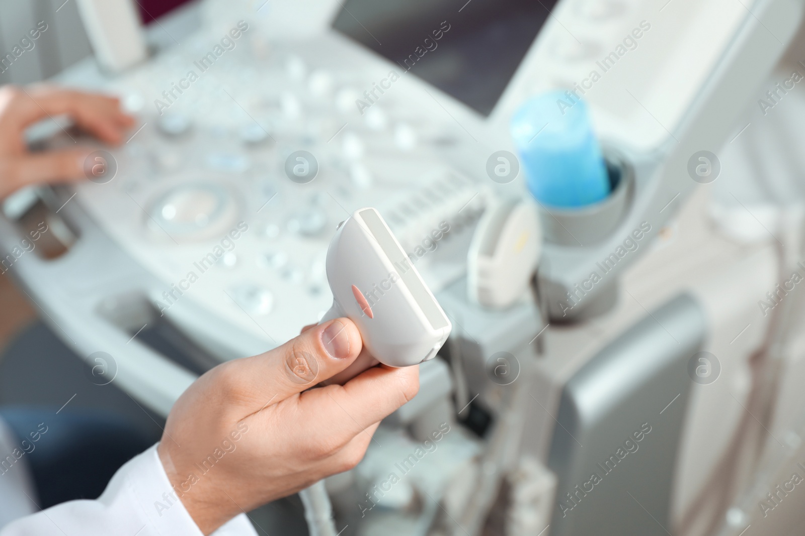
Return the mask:
<svg viewBox="0 0 805 536">
<path fill-rule="evenodd" d="M 327 252 L 332 308 L 348 317 L 379 362 L 412 366 L 436 356 L 452 325 L 380 213 L 361 208 L 341 223 Z"/>
</svg>

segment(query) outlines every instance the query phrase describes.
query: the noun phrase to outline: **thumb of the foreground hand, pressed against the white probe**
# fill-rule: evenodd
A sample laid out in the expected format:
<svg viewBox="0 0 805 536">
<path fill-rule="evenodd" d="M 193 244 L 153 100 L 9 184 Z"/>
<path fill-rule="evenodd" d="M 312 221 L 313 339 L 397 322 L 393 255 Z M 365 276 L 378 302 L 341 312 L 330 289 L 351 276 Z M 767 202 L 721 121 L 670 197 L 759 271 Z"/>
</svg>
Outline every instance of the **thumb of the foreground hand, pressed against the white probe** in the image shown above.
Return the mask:
<svg viewBox="0 0 805 536">
<path fill-rule="evenodd" d="M 344 370 L 362 347 L 353 321 L 336 318 L 265 354 L 230 361 L 218 374 L 229 376 L 225 383 L 237 383 L 241 402 L 259 411 Z"/>
</svg>

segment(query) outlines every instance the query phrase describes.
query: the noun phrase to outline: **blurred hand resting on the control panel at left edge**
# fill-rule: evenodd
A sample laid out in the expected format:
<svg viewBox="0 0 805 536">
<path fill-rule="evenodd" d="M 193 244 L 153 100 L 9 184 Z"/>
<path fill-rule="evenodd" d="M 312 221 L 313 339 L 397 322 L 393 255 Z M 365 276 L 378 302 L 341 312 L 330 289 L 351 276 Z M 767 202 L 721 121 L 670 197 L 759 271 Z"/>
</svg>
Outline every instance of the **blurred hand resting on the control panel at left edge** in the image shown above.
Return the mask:
<svg viewBox="0 0 805 536">
<path fill-rule="evenodd" d="M 123 141 L 134 118 L 114 97 L 50 86 L 0 88 L 0 198 L 23 186 L 85 179 L 84 160 L 90 151 L 66 149 L 31 153 L 25 129 L 46 117 L 67 114 L 76 125 L 106 143 Z"/>
</svg>

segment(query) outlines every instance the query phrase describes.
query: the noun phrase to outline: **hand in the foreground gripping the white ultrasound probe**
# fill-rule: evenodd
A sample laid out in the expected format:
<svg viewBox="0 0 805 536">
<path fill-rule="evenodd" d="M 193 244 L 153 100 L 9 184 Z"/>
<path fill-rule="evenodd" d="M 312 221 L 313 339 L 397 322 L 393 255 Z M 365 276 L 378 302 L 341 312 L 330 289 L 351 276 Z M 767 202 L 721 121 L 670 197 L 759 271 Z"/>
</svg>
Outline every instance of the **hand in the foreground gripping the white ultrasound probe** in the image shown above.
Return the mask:
<svg viewBox="0 0 805 536">
<path fill-rule="evenodd" d="M 176 401 L 159 459 L 204 534 L 353 468 L 380 420 L 416 395 L 418 366 L 377 366 L 343 386 L 311 389 L 349 366 L 362 345 L 353 322 L 338 318 L 215 367 Z"/>
</svg>

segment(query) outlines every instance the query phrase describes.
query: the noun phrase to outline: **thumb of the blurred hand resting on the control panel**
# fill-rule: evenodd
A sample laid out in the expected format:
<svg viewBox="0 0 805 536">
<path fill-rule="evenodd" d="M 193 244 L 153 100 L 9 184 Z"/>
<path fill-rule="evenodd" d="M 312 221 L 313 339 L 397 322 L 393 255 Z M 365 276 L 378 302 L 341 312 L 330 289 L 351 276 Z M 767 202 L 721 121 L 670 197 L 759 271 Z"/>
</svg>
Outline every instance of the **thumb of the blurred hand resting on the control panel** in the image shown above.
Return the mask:
<svg viewBox="0 0 805 536">
<path fill-rule="evenodd" d="M 84 179 L 89 153 L 87 149 L 66 149 L 6 158 L 2 162 L 4 194 L 33 184 Z"/>
</svg>

